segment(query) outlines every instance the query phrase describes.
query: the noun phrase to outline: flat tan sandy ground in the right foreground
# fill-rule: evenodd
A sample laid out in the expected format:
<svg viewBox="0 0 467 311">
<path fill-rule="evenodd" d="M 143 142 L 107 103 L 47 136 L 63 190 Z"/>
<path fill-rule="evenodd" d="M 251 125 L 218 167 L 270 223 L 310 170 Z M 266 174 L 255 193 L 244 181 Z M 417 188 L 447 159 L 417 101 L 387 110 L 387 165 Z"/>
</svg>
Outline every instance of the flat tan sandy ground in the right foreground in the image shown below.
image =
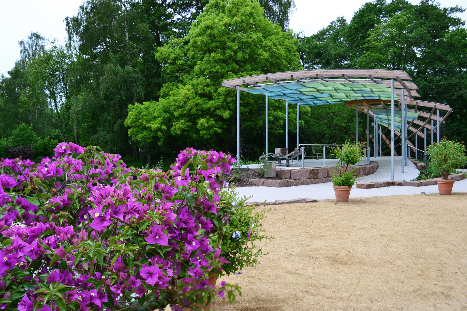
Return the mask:
<svg viewBox="0 0 467 311">
<path fill-rule="evenodd" d="M 467 194 L 274 206 L 263 224 L 270 254 L 223 277 L 243 297 L 213 310 L 467 310 Z"/>
</svg>

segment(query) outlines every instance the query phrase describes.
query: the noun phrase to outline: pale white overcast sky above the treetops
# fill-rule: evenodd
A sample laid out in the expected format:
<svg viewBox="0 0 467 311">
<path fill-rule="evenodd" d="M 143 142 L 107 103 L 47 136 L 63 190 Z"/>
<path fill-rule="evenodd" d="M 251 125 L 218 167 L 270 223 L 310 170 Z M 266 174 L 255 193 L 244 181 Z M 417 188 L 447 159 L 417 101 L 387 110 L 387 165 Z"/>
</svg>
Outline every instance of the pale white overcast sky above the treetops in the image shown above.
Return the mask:
<svg viewBox="0 0 467 311">
<path fill-rule="evenodd" d="M 331 21 L 344 16 L 350 21 L 366 0 L 295 0 L 290 28 L 303 30 L 312 35 L 325 28 Z M 412 3 L 419 2 L 411 0 Z M 0 74 L 14 66 L 20 57 L 18 41 L 31 31 L 37 31 L 51 39 L 64 40 L 66 36 L 64 18 L 78 12 L 83 0 L 0 0 Z M 461 5 L 467 7 L 467 0 L 439 0 L 442 6 Z M 467 20 L 467 13 L 460 14 Z"/>
</svg>

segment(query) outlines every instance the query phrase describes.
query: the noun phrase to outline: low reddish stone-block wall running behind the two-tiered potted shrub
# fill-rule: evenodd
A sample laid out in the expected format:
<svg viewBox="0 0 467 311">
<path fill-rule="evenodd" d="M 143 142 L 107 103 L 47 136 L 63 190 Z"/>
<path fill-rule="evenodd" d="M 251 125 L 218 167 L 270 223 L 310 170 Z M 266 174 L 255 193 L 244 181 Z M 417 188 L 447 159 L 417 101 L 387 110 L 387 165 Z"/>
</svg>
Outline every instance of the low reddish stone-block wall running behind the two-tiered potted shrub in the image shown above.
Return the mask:
<svg viewBox="0 0 467 311">
<path fill-rule="evenodd" d="M 370 162 L 370 164 L 361 166 L 349 166 L 347 171 L 354 170 L 358 176 L 366 176 L 376 172 L 378 162 Z M 321 184 L 323 182 L 331 182 L 333 177 L 334 166 L 313 167 L 313 168 L 276 168 L 276 179 L 250 179 L 252 183 L 258 186 L 266 187 L 291 187 L 301 185 Z"/>
</svg>

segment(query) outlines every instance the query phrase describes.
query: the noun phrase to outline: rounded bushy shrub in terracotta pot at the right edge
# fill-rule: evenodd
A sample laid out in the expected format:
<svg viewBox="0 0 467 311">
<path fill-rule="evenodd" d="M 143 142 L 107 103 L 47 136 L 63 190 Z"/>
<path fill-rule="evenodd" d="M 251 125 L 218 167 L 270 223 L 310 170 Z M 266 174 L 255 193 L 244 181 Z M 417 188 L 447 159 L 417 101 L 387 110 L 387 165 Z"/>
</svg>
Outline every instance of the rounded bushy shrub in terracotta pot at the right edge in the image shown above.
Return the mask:
<svg viewBox="0 0 467 311">
<path fill-rule="evenodd" d="M 455 140 L 443 138 L 439 144 L 429 145 L 426 152 L 430 155 L 430 167 L 442 176 L 436 180 L 439 194 L 451 194 L 454 180 L 448 179 L 449 172 L 466 165 L 466 147 Z"/>
</svg>

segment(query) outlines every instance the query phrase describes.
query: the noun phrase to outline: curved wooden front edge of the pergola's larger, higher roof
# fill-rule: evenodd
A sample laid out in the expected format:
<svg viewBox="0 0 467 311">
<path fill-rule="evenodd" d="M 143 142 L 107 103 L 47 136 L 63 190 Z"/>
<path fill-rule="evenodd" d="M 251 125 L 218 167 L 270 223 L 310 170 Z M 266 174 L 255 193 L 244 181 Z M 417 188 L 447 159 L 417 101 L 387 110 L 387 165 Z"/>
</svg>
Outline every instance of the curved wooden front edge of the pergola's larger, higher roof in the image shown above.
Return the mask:
<svg viewBox="0 0 467 311">
<path fill-rule="evenodd" d="M 403 80 L 412 80 L 410 76 L 402 70 L 386 70 L 386 69 L 316 69 L 316 70 L 297 70 L 297 71 L 285 71 L 285 72 L 276 72 L 256 76 L 244 76 L 241 78 L 235 78 L 224 81 L 226 84 L 230 85 L 242 85 L 243 79 L 253 81 L 256 83 L 267 81 L 266 77 L 269 76 L 276 80 L 288 80 L 290 76 L 300 76 L 302 78 L 314 78 L 319 74 L 326 78 L 341 77 L 342 74 L 345 74 L 349 77 L 360 77 L 368 78 L 368 75 L 372 75 L 375 78 L 383 79 L 396 79 L 396 76 L 399 76 Z"/>
</svg>

